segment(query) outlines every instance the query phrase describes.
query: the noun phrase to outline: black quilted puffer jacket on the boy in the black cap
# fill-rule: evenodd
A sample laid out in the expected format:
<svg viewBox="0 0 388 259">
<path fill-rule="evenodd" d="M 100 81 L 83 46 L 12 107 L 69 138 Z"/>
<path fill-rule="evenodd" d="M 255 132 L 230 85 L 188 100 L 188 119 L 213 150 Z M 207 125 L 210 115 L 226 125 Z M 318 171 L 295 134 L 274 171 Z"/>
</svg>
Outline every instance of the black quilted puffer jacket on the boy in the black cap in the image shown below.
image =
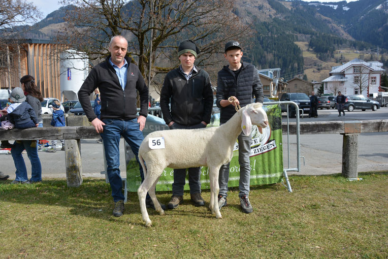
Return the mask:
<svg viewBox="0 0 388 259">
<path fill-rule="evenodd" d="M 241 62 L 241 71 L 237 78 L 229 66 L 224 66 L 218 72 L 216 104 L 221 110 L 220 123 L 227 122 L 236 113 L 233 105 L 221 107 L 219 104 L 221 100 L 228 100 L 232 95 L 236 96 L 241 107 L 252 103 L 253 95 L 256 98 L 256 103 L 263 103 L 263 85 L 257 69 L 252 64 Z"/>
</svg>

